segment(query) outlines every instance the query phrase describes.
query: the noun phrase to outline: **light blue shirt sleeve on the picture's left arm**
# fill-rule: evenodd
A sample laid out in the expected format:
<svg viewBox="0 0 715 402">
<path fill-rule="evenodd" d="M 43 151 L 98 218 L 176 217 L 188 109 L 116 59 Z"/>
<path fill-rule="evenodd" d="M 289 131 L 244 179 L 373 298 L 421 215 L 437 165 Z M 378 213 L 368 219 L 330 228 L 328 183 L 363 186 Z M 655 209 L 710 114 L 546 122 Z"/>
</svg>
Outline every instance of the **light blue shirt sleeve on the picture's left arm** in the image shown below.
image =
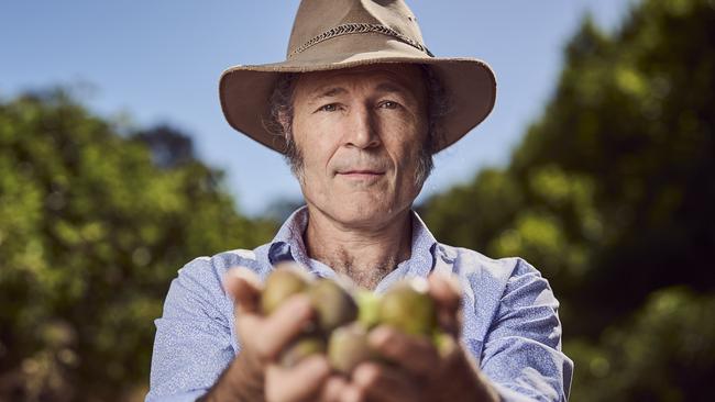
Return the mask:
<svg viewBox="0 0 715 402">
<path fill-rule="evenodd" d="M 195 401 L 235 356 L 220 275 L 209 258 L 186 265 L 172 281 L 155 321 L 146 401 Z"/>
</svg>

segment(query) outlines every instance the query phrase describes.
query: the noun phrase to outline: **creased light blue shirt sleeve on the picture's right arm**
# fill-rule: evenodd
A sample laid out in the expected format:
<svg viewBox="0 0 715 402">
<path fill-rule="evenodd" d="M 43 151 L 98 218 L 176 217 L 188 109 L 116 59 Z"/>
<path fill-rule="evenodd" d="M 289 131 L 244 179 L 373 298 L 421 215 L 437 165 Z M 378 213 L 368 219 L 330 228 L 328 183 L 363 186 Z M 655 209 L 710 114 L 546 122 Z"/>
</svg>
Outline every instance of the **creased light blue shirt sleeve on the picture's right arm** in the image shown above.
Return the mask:
<svg viewBox="0 0 715 402">
<path fill-rule="evenodd" d="M 573 362 L 561 351 L 559 302 L 522 259 L 508 279 L 481 367 L 504 401 L 565 401 Z"/>
</svg>

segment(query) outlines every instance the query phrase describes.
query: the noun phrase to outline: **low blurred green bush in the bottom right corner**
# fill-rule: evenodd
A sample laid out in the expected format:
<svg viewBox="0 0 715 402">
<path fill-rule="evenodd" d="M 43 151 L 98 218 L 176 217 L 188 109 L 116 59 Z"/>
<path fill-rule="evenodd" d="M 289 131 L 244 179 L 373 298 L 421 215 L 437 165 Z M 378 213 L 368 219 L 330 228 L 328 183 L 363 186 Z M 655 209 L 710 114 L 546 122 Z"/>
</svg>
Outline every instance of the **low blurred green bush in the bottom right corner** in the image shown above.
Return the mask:
<svg viewBox="0 0 715 402">
<path fill-rule="evenodd" d="M 668 288 L 648 298 L 623 325 L 603 332 L 600 347 L 564 345 L 575 371 L 574 401 L 692 401 L 715 376 L 715 295 Z M 598 390 L 598 392 L 594 392 Z"/>
</svg>

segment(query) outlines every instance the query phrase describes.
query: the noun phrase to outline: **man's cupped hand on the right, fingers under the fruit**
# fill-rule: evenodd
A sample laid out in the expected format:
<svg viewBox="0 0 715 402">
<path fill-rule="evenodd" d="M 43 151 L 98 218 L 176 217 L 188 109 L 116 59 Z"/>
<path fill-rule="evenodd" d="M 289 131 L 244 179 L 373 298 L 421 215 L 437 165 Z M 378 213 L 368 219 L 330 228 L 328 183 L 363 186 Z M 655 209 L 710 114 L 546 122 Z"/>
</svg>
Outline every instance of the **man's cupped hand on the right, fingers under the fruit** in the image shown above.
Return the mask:
<svg viewBox="0 0 715 402">
<path fill-rule="evenodd" d="M 461 328 L 459 283 L 432 275 L 429 292 L 437 301 L 442 330 L 450 334 L 441 353 L 427 338 L 381 326 L 370 334 L 371 345 L 393 365 L 364 362 L 351 382 L 342 384 L 340 401 L 498 401 L 469 351 L 459 343 Z M 451 347 L 450 347 L 451 345 Z"/>
</svg>

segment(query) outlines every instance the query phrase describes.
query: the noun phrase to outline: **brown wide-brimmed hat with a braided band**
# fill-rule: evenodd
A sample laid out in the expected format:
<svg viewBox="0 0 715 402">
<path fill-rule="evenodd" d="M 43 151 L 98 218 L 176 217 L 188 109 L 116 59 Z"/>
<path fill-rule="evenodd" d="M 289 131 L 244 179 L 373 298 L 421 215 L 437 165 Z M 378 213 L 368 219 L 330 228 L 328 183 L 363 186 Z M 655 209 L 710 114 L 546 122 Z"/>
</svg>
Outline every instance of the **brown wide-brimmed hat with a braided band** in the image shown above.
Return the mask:
<svg viewBox="0 0 715 402">
<path fill-rule="evenodd" d="M 494 108 L 496 79 L 490 66 L 476 58 L 435 57 L 402 0 L 301 1 L 286 60 L 223 71 L 221 108 L 233 129 L 285 153 L 284 138 L 266 125 L 279 75 L 387 63 L 429 65 L 444 88 L 450 107 L 440 120 L 443 138 L 436 152 L 463 137 Z"/>
</svg>

